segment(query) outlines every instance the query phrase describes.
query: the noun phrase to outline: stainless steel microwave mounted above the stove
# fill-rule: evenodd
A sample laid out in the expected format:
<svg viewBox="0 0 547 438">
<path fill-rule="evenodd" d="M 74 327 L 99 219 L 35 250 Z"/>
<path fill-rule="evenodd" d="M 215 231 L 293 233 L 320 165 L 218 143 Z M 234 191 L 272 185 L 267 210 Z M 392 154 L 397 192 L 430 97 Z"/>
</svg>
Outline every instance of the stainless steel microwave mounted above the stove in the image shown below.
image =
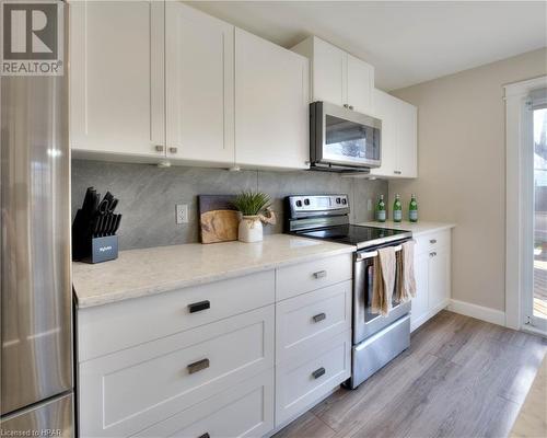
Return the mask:
<svg viewBox="0 0 547 438">
<path fill-rule="evenodd" d="M 316 170 L 379 168 L 382 120 L 327 102 L 310 104 L 310 165 Z"/>
</svg>

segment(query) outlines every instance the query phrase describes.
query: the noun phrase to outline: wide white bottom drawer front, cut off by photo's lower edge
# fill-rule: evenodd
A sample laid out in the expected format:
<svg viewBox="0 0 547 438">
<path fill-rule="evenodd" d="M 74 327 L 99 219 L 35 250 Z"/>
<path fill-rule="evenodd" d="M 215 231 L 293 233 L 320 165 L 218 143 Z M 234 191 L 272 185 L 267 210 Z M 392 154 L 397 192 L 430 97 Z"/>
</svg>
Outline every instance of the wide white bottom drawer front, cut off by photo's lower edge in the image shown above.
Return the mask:
<svg viewBox="0 0 547 438">
<path fill-rule="evenodd" d="M 207 399 L 135 437 L 260 437 L 271 429 L 274 369 Z"/>
</svg>

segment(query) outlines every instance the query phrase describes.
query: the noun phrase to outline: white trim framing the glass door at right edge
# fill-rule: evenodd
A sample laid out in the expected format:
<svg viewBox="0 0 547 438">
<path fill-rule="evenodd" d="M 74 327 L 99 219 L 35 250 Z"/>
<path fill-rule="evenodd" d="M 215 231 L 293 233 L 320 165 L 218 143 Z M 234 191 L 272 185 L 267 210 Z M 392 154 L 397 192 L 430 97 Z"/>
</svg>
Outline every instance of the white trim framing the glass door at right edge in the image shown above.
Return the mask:
<svg viewBox="0 0 547 438">
<path fill-rule="evenodd" d="M 525 104 L 533 90 L 547 87 L 547 76 L 504 87 L 505 100 L 505 326 L 521 330 L 523 298 L 531 285 L 525 270 L 529 261 L 526 249 L 532 212 L 523 208 L 529 203 L 529 159 L 525 155 Z M 528 134 L 529 135 L 529 134 Z M 525 197 L 528 197 L 526 199 Z M 528 204 L 529 205 L 529 204 Z M 531 251 L 528 251 L 532 254 Z M 529 255 L 528 255 L 529 256 Z"/>
</svg>

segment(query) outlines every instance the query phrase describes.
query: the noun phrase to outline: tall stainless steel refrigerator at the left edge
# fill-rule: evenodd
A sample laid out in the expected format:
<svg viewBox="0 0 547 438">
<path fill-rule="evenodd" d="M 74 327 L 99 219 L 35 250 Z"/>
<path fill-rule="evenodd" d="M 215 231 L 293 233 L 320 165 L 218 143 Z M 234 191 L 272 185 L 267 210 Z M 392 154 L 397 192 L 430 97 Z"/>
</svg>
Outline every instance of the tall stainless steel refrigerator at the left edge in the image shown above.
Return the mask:
<svg viewBox="0 0 547 438">
<path fill-rule="evenodd" d="M 67 74 L 1 82 L 1 429 L 72 436 Z"/>
</svg>

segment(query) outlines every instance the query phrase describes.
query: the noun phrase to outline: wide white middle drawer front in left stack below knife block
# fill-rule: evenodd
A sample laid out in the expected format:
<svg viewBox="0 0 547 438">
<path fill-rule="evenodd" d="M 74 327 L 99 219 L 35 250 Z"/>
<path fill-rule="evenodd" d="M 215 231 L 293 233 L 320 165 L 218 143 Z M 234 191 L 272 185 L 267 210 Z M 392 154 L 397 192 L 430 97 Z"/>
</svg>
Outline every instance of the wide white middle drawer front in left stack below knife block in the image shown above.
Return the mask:
<svg viewBox="0 0 547 438">
<path fill-rule="evenodd" d="M 79 366 L 80 433 L 124 437 L 274 367 L 275 307 Z"/>
</svg>

